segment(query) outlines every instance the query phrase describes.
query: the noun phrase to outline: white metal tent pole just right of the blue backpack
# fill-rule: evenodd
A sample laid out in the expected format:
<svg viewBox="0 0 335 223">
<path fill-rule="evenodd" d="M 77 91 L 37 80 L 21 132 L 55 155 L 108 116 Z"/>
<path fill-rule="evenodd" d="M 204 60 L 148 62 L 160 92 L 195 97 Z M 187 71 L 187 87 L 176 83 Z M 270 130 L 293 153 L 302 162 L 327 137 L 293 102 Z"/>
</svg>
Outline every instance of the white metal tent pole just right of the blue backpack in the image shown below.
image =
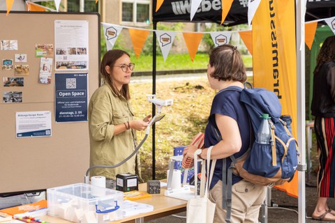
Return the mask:
<svg viewBox="0 0 335 223">
<path fill-rule="evenodd" d="M 297 139 L 300 148 L 298 163 L 299 176 L 299 223 L 306 222 L 306 130 L 305 130 L 305 13 L 306 0 L 296 0 L 296 44 L 297 44 Z"/>
</svg>

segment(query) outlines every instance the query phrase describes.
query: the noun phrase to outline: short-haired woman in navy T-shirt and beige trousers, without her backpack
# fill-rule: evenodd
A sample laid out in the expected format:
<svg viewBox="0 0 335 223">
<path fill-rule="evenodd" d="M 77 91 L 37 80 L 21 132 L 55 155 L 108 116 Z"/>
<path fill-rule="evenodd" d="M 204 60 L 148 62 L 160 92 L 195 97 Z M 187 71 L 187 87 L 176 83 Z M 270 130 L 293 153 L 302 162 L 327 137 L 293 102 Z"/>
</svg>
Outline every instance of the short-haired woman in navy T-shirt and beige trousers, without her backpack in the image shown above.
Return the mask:
<svg viewBox="0 0 335 223">
<path fill-rule="evenodd" d="M 218 90 L 209 114 L 209 123 L 205 129 L 204 146 L 201 159 L 207 158 L 207 150 L 211 149 L 211 159 L 217 160 L 214 176 L 209 185 L 209 198 L 216 203 L 214 222 L 258 222 L 260 206 L 265 201 L 266 187 L 255 185 L 239 176 L 232 176 L 232 208 L 231 215 L 223 205 L 223 158 L 228 170 L 230 155 L 240 157 L 246 153 L 251 136 L 246 107 L 239 100 L 241 89 L 246 82 L 246 69 L 237 47 L 221 45 L 214 48 L 209 56 L 207 77 L 211 89 Z M 227 91 L 232 89 L 233 91 Z M 213 128 L 214 127 L 214 128 Z M 221 134 L 218 139 L 215 130 Z M 184 158 L 191 157 L 198 148 L 189 145 L 184 148 Z"/>
</svg>

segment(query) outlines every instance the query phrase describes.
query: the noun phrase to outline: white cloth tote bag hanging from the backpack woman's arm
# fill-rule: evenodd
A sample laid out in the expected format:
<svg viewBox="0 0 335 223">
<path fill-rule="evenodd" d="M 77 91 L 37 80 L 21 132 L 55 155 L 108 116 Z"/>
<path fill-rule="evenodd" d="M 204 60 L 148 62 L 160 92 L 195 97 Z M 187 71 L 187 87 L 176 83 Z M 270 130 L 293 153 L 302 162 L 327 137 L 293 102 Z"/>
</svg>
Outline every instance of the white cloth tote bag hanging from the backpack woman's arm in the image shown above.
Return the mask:
<svg viewBox="0 0 335 223">
<path fill-rule="evenodd" d="M 211 148 L 208 148 L 207 151 L 207 173 L 209 173 L 210 157 L 211 157 Z M 194 153 L 194 173 L 195 173 L 195 198 L 190 199 L 187 202 L 186 209 L 186 223 L 212 223 L 214 220 L 215 213 L 215 203 L 212 203 L 208 198 L 208 187 L 211 183 L 211 178 L 213 177 L 214 167 L 216 160 L 213 160 L 211 163 L 211 173 L 207 177 L 207 183 L 205 184 L 205 163 L 202 160 L 201 168 L 201 180 L 200 180 L 200 195 L 197 194 L 198 188 L 198 154 L 201 153 L 201 149 L 195 151 Z M 206 187 L 204 188 L 204 185 Z"/>
</svg>

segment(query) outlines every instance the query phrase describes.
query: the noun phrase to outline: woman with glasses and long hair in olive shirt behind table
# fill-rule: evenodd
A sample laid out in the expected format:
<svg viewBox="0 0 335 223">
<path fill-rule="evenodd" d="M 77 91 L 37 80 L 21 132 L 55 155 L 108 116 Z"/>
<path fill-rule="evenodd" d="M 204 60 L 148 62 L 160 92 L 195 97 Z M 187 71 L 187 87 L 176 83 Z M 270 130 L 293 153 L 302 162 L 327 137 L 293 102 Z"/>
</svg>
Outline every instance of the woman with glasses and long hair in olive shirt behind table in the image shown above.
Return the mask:
<svg viewBox="0 0 335 223">
<path fill-rule="evenodd" d="M 151 115 L 134 120 L 129 82 L 135 64 L 127 52 L 112 49 L 101 61 L 103 85 L 89 101 L 90 167 L 113 166 L 136 148 L 136 130 L 145 130 Z M 106 187 L 114 189 L 117 174 L 137 174 L 141 179 L 140 157 L 131 157 L 116 168 L 92 169 L 91 176 L 105 176 Z"/>
</svg>

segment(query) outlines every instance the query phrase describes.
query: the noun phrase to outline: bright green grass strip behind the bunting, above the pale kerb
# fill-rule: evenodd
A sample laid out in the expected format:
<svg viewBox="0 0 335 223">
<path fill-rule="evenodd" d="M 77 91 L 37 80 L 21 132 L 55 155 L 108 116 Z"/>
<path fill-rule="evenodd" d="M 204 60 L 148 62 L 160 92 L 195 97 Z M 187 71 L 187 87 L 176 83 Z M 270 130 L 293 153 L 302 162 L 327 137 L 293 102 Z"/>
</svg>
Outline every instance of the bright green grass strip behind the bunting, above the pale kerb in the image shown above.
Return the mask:
<svg viewBox="0 0 335 223">
<path fill-rule="evenodd" d="M 243 55 L 242 58 L 247 68 L 253 66 L 251 55 Z M 156 70 L 206 69 L 208 60 L 208 54 L 196 54 L 193 62 L 189 54 L 170 54 L 166 61 L 164 61 L 163 56 L 158 55 L 156 57 Z M 131 55 L 131 61 L 135 63 L 135 71 L 152 70 L 152 56 L 141 54 L 136 59 L 135 55 Z"/>
</svg>

